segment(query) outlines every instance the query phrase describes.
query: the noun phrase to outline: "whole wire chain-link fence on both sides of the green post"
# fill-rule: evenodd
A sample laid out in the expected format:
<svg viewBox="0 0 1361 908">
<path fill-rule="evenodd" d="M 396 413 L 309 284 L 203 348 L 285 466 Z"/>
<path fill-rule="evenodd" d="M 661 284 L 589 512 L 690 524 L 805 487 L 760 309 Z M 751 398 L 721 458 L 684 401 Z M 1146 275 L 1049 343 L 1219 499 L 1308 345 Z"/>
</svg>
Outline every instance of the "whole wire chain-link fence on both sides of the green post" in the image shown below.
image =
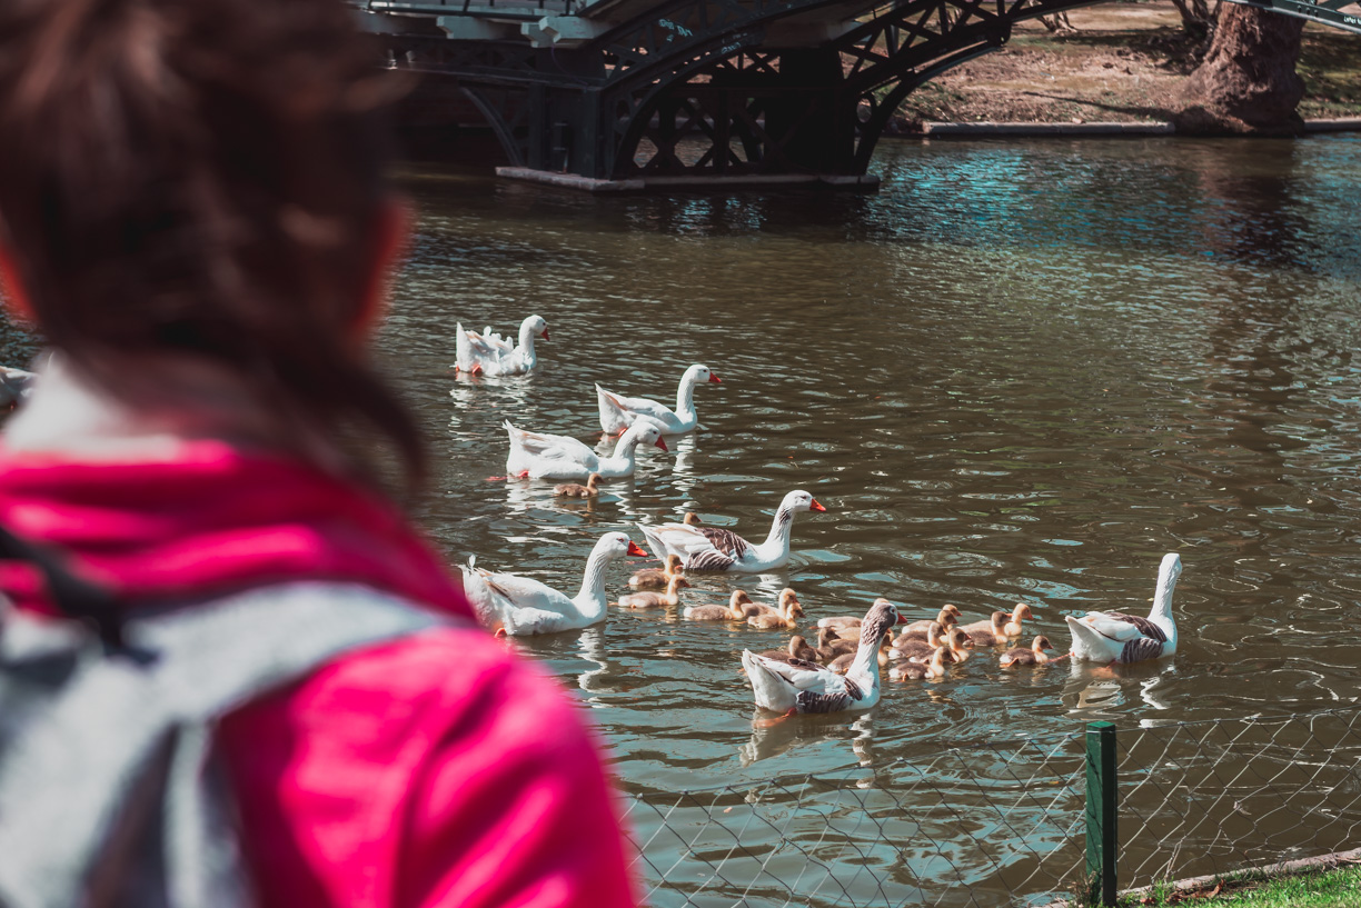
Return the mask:
<svg viewBox="0 0 1361 908">
<path fill-rule="evenodd" d="M 1120 730 L 1120 886 L 1354 847 L 1358 721 L 1353 708 Z M 634 787 L 634 870 L 656 908 L 1067 898 L 1094 871 L 1083 858 L 1100 820 L 1087 738 L 994 741 L 683 792 Z"/>
</svg>

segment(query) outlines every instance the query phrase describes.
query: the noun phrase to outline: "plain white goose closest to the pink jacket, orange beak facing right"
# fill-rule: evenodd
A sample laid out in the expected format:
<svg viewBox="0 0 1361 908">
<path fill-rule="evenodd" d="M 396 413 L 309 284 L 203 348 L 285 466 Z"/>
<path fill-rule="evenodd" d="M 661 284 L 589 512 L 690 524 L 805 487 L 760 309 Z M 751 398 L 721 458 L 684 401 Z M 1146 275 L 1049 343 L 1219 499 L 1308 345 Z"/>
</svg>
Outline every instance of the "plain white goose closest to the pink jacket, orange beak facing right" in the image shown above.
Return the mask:
<svg viewBox="0 0 1361 908">
<path fill-rule="evenodd" d="M 646 554 L 626 534 L 607 532 L 587 558 L 581 592 L 570 599 L 538 580 L 483 570 L 470 558 L 463 568 L 463 592 L 478 619 L 498 637 L 577 630 L 604 621 L 610 604 L 604 595 L 606 566 L 625 555 Z"/>
</svg>

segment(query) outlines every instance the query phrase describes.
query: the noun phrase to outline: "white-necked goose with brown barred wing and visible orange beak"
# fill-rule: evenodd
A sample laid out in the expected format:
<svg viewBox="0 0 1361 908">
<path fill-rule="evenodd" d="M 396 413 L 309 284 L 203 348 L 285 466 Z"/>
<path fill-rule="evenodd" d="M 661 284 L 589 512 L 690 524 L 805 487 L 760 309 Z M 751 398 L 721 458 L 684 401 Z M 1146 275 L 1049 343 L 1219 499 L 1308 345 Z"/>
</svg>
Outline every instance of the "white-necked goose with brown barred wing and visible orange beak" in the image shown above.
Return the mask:
<svg viewBox="0 0 1361 908">
<path fill-rule="evenodd" d="M 715 527 L 691 527 L 683 523 L 663 523 L 638 530 L 657 558 L 680 555 L 686 570 L 731 570 L 734 573 L 761 573 L 789 564 L 789 534 L 793 515 L 802 510 L 826 510 L 807 491 L 796 489 L 784 497 L 770 521 L 770 534 L 761 545 L 753 545 L 732 532 Z"/>
</svg>

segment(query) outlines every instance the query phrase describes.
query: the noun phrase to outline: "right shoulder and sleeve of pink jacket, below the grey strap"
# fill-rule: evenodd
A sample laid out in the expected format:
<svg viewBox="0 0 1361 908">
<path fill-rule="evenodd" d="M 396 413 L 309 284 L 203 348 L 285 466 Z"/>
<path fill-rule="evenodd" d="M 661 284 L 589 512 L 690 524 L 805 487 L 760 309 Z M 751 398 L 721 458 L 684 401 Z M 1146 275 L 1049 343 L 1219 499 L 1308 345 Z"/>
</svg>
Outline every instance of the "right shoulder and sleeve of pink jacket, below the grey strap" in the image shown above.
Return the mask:
<svg viewBox="0 0 1361 908">
<path fill-rule="evenodd" d="M 219 741 L 267 908 L 634 904 L 581 708 L 479 629 L 340 659 Z"/>
</svg>

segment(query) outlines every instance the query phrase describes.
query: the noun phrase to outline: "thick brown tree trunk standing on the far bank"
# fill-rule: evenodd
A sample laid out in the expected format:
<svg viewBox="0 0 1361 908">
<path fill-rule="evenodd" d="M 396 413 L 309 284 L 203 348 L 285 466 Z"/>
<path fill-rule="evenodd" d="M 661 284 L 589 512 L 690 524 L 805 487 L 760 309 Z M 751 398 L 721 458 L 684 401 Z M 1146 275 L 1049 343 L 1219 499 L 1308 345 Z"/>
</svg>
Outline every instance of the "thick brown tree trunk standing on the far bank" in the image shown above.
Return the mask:
<svg viewBox="0 0 1361 908">
<path fill-rule="evenodd" d="M 1296 135 L 1304 97 L 1300 60 L 1304 20 L 1224 4 L 1204 60 L 1181 90 L 1177 132 Z"/>
</svg>

